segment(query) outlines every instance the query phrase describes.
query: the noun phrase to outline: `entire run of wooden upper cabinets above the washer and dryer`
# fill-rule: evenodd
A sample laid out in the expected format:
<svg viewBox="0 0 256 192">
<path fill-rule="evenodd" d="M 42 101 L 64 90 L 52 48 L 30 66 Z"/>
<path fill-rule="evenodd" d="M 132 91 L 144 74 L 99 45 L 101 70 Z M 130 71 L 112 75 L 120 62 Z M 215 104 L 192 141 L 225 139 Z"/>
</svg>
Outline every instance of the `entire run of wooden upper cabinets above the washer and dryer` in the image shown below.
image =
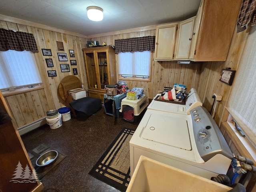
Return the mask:
<svg viewBox="0 0 256 192">
<path fill-rule="evenodd" d="M 155 60 L 225 61 L 240 5 L 241 0 L 202 0 L 197 15 L 179 22 L 177 32 L 167 31 L 177 23 L 157 26 Z"/>
</svg>

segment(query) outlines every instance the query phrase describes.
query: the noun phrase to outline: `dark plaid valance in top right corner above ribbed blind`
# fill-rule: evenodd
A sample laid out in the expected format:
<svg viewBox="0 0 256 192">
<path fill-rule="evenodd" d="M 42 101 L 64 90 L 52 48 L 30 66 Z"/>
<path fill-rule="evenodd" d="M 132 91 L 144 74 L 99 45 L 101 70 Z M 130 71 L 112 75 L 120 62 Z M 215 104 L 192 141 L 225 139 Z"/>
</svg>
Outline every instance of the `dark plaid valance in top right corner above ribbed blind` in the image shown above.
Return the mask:
<svg viewBox="0 0 256 192">
<path fill-rule="evenodd" d="M 243 0 L 237 20 L 237 32 L 256 24 L 256 0 Z"/>
</svg>

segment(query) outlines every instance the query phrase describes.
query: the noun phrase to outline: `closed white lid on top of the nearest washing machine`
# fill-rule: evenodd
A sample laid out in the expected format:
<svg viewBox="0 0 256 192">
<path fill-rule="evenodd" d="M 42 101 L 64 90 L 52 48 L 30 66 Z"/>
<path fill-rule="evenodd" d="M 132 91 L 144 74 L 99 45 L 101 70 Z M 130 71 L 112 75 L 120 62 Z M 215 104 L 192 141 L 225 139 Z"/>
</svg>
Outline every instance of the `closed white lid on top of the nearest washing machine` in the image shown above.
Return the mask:
<svg viewBox="0 0 256 192">
<path fill-rule="evenodd" d="M 192 150 L 186 118 L 151 114 L 141 137 L 168 146 Z"/>
</svg>

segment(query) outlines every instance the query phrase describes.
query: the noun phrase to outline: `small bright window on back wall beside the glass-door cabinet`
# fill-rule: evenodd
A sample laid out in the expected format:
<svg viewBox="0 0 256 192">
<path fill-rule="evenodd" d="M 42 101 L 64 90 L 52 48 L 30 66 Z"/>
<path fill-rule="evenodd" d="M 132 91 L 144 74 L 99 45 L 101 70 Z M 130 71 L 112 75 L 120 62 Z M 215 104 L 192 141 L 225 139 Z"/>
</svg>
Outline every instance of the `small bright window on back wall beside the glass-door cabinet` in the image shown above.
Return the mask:
<svg viewBox="0 0 256 192">
<path fill-rule="evenodd" d="M 150 81 L 151 52 L 118 53 L 119 79 Z"/>
</svg>

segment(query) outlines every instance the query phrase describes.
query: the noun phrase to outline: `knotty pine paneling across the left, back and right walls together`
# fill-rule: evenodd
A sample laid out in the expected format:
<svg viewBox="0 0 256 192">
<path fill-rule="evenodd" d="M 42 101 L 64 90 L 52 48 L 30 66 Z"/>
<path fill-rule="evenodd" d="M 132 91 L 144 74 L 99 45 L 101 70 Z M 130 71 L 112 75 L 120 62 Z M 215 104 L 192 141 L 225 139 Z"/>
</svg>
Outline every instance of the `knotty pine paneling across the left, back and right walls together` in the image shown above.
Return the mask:
<svg viewBox="0 0 256 192">
<path fill-rule="evenodd" d="M 130 29 L 86 38 L 83 35 L 72 34 L 72 32 L 65 32 L 63 30 L 58 32 L 58 30 L 52 30 L 52 28 L 48 26 L 39 28 L 28 24 L 26 21 L 24 21 L 24 23 L 26 25 L 22 24 L 20 20 L 18 20 L 17 23 L 15 20 L 10 22 L 10 18 L 8 18 L 8 20 L 0 20 L 0 27 L 34 34 L 39 50 L 39 52 L 36 53 L 36 62 L 40 70 L 44 88 L 5 97 L 12 115 L 14 116 L 14 124 L 16 124 L 17 128 L 46 116 L 47 110 L 58 109 L 63 106 L 62 99 L 57 93 L 57 88 L 62 78 L 73 74 L 72 68 L 78 69 L 77 77 L 82 81 L 84 87 L 88 88 L 82 54 L 82 48 L 86 47 L 86 41 L 96 40 L 99 41 L 100 44 L 106 42 L 107 45 L 114 45 L 115 39 L 153 36 L 156 34 L 155 26 L 149 26 L 148 28 Z M 40 27 L 41 26 L 42 25 L 40 25 Z M 65 51 L 58 51 L 56 41 L 63 42 Z M 153 98 L 158 92 L 164 90 L 164 86 L 172 87 L 175 83 L 185 84 L 188 89 L 194 87 L 198 90 L 203 105 L 209 111 L 213 102 L 212 95 L 214 93 L 222 94 L 223 100 L 220 102 L 215 116 L 215 121 L 219 123 L 231 89 L 231 86 L 219 81 L 220 72 L 222 68 L 226 67 L 231 67 L 236 70 L 245 41 L 246 32 L 239 34 L 234 32 L 226 62 L 192 62 L 192 64 L 177 64 L 176 61 L 158 62 L 154 61 L 153 52 L 151 81 L 126 81 L 128 88 L 144 88 L 146 96 Z M 42 48 L 51 49 L 52 56 L 43 56 Z M 70 58 L 68 50 L 74 50 L 75 58 Z M 68 61 L 60 62 L 57 56 L 58 52 L 67 53 Z M 54 67 L 47 67 L 45 62 L 46 58 L 52 58 Z M 61 72 L 60 64 L 70 64 L 70 59 L 76 60 L 77 66 L 70 65 L 70 72 Z M 47 70 L 56 70 L 57 77 L 48 77 Z M 116 71 L 116 75 L 118 75 L 118 64 L 116 64 Z"/>
</svg>

